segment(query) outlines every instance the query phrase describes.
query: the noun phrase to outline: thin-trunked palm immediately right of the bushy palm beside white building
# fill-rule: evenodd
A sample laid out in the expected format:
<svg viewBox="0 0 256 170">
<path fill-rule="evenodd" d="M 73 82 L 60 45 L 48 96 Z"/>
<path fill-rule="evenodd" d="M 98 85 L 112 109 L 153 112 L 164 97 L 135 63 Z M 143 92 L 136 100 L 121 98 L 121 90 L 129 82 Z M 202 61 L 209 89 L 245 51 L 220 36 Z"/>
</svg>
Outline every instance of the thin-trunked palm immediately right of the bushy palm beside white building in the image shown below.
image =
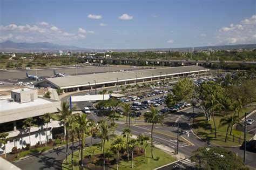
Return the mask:
<svg viewBox="0 0 256 170">
<path fill-rule="evenodd" d="M 71 165 L 73 169 L 73 162 L 74 162 L 74 132 L 79 131 L 79 124 L 77 123 L 77 114 L 72 114 L 71 118 L 69 119 L 69 128 L 71 130 L 71 140 L 72 140 L 72 153 L 71 153 Z"/>
</svg>

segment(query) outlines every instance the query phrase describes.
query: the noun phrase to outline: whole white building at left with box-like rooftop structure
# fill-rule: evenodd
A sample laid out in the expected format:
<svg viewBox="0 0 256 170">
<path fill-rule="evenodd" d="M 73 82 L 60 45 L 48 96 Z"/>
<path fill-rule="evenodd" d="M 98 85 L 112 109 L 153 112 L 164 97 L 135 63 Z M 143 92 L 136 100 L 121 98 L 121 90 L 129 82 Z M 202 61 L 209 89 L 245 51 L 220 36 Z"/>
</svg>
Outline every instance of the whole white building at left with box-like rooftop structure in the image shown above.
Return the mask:
<svg viewBox="0 0 256 170">
<path fill-rule="evenodd" d="M 45 142 L 46 125 L 39 116 L 45 113 L 55 113 L 60 107 L 60 101 L 37 96 L 36 89 L 17 89 L 11 91 L 11 98 L 0 100 L 0 133 L 9 133 L 12 140 L 6 144 L 6 153 L 12 147 L 22 148 L 29 144 L 29 131 L 22 128 L 26 118 L 34 118 L 38 126 L 31 128 L 31 145 L 38 141 Z M 48 124 L 48 139 L 52 139 L 52 129 L 60 127 L 58 121 Z M 4 145 L 0 144 L 0 154 L 4 153 Z"/>
</svg>

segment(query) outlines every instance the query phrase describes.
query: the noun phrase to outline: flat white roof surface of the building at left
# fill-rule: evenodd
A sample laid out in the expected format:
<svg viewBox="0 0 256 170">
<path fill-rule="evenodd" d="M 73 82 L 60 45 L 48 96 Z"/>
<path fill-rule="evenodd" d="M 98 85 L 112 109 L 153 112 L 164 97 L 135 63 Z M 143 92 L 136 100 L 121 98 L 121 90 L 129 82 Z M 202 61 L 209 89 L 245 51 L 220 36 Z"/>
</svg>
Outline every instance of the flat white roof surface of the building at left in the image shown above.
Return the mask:
<svg viewBox="0 0 256 170">
<path fill-rule="evenodd" d="M 36 106 L 36 105 L 43 105 L 43 104 L 49 104 L 52 103 L 52 101 L 45 100 L 42 98 L 38 98 L 34 101 L 26 102 L 26 103 L 17 103 L 17 102 L 12 102 L 9 100 L 0 100 L 0 111 L 8 111 L 12 109 L 19 109 L 23 107 L 31 107 L 31 106 Z M 0 113 L 1 113 L 0 112 Z"/>
</svg>

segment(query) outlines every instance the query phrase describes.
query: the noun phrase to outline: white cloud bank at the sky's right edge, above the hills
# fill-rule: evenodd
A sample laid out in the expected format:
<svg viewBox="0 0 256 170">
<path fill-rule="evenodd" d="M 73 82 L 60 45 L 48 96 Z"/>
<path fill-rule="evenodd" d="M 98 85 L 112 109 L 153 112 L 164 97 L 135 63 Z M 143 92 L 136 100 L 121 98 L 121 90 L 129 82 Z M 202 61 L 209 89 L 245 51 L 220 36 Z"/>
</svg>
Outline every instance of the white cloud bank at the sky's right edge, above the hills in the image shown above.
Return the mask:
<svg viewBox="0 0 256 170">
<path fill-rule="evenodd" d="M 236 24 L 220 28 L 216 38 L 219 44 L 255 43 L 255 30 L 256 15 L 252 15 Z"/>
</svg>

